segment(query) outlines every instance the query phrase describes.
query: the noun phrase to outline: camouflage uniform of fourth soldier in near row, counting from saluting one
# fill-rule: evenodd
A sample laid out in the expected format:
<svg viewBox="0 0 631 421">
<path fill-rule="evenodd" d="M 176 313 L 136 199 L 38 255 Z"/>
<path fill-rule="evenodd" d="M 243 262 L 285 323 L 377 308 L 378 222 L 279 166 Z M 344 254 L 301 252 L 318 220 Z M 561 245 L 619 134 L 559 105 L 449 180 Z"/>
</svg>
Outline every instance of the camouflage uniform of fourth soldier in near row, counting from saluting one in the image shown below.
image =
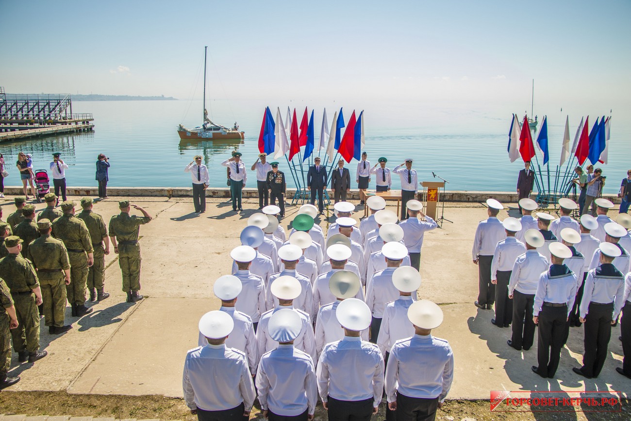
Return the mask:
<svg viewBox="0 0 631 421">
<path fill-rule="evenodd" d="M 28 259 L 37 268 L 42 301 L 44 302 L 45 324 L 46 326 L 61 328 L 64 326 L 66 316 L 66 274 L 64 270 L 70 269 L 66 246 L 61 240 L 50 235 L 42 235 L 29 245 Z"/>
</svg>

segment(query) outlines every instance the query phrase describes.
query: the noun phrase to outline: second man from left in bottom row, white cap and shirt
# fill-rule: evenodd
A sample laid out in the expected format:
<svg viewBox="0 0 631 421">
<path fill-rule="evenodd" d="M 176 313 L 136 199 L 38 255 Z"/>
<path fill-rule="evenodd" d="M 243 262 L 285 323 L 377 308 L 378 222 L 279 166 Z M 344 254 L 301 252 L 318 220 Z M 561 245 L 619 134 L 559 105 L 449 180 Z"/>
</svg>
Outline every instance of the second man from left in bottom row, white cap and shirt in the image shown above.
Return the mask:
<svg viewBox="0 0 631 421">
<path fill-rule="evenodd" d="M 261 357 L 256 388 L 263 417 L 274 420 L 312 420 L 317 404 L 314 362 L 294 343 L 302 331 L 300 316 L 283 309 L 269 318 L 269 336 L 278 348 Z"/>
</svg>

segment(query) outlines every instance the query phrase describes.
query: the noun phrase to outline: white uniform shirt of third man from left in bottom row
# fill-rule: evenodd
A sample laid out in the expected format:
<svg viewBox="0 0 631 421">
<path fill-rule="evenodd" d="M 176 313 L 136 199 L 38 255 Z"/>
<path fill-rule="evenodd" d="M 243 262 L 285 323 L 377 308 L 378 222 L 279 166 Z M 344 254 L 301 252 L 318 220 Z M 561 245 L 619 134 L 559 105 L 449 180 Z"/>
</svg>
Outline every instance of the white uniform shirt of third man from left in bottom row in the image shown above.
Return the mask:
<svg viewBox="0 0 631 421">
<path fill-rule="evenodd" d="M 317 387 L 323 402 L 329 396 L 343 401 L 374 399 L 384 392 L 384 357 L 374 343 L 355 336 L 324 347 L 317 365 Z"/>
</svg>

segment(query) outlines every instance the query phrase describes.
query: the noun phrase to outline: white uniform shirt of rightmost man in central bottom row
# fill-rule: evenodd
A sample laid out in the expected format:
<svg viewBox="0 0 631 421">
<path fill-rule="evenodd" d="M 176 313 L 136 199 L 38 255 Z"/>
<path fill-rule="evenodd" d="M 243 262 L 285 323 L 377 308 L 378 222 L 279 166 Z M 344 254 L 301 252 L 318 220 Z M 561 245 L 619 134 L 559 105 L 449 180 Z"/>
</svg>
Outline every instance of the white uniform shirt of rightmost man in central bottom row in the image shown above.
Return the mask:
<svg viewBox="0 0 631 421">
<path fill-rule="evenodd" d="M 386 369 L 386 396 L 398 391 L 410 398 L 445 400 L 454 381 L 454 353 L 449 342 L 432 335 L 414 335 L 394 343 Z"/>
</svg>

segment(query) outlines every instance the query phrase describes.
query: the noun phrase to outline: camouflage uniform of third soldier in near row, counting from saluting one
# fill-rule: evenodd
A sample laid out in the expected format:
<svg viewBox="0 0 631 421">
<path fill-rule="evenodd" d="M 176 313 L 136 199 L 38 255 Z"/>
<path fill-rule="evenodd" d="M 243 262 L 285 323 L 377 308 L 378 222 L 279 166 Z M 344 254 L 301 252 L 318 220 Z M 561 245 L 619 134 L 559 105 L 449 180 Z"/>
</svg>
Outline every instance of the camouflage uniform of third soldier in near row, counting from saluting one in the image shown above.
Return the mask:
<svg viewBox="0 0 631 421">
<path fill-rule="evenodd" d="M 66 202 L 64 202 L 65 204 Z M 63 204 L 62 204 L 63 205 Z M 93 251 L 90 232 L 85 222 L 71 213 L 64 213 L 52 223 L 55 237 L 64 242 L 70 259 L 70 285 L 66 285 L 71 305 L 85 304 L 85 288 L 88 280 L 88 256 Z"/>
</svg>

